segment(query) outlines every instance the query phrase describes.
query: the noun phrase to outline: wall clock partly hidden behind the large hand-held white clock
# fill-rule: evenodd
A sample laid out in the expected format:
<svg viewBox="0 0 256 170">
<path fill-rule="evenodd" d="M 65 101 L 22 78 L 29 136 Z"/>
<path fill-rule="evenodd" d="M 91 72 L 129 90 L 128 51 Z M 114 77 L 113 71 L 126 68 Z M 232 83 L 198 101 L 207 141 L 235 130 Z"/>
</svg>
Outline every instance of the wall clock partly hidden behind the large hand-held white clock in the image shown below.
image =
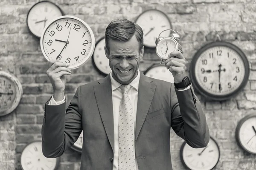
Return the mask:
<svg viewBox="0 0 256 170">
<path fill-rule="evenodd" d="M 48 0 L 35 3 L 27 14 L 26 23 L 29 32 L 40 38 L 44 27 L 55 17 L 64 15 L 60 7 Z"/>
</svg>

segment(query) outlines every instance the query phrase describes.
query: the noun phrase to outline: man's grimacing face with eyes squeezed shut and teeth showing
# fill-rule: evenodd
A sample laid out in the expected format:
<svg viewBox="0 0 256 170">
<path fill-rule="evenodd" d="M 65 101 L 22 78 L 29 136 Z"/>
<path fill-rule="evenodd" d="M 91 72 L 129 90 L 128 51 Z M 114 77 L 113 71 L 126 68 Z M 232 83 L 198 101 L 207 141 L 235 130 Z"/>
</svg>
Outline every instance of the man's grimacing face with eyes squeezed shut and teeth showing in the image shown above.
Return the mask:
<svg viewBox="0 0 256 170">
<path fill-rule="evenodd" d="M 139 42 L 135 35 L 127 42 L 110 39 L 108 45 L 109 51 L 105 46 L 105 54 L 109 59 L 112 76 L 120 84 L 128 85 L 137 77 L 144 46 L 139 51 Z"/>
</svg>

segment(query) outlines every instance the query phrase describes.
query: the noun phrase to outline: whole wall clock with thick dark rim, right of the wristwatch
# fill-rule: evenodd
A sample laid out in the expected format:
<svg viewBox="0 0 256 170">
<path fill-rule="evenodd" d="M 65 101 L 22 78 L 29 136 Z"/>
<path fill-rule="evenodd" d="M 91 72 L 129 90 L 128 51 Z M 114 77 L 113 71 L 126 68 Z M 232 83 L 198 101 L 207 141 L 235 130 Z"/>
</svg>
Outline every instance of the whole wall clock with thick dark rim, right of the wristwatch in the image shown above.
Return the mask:
<svg viewBox="0 0 256 170">
<path fill-rule="evenodd" d="M 229 42 L 204 45 L 191 62 L 193 86 L 210 100 L 226 100 L 237 95 L 246 85 L 249 74 L 247 57 Z"/>
</svg>

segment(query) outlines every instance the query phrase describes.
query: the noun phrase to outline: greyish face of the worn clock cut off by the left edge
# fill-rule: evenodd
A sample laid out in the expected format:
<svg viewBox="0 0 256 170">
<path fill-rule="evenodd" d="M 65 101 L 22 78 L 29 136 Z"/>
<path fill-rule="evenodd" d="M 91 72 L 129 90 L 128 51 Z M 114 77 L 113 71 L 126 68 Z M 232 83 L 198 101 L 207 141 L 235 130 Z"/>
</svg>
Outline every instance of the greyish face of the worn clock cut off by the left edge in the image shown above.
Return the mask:
<svg viewBox="0 0 256 170">
<path fill-rule="evenodd" d="M 0 77 L 0 113 L 10 108 L 15 101 L 16 88 L 10 79 Z"/>
</svg>

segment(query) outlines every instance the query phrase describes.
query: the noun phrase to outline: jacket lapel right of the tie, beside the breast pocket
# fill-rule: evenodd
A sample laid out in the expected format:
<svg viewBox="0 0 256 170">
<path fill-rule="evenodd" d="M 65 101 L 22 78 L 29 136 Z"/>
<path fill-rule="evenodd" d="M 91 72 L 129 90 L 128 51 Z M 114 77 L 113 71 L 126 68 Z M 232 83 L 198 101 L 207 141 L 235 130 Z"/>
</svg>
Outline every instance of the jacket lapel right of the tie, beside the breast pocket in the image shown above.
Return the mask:
<svg viewBox="0 0 256 170">
<path fill-rule="evenodd" d="M 152 79 L 146 77 L 142 72 L 140 72 L 135 140 L 138 138 L 154 96 L 156 85 L 151 83 L 152 81 Z"/>
</svg>

